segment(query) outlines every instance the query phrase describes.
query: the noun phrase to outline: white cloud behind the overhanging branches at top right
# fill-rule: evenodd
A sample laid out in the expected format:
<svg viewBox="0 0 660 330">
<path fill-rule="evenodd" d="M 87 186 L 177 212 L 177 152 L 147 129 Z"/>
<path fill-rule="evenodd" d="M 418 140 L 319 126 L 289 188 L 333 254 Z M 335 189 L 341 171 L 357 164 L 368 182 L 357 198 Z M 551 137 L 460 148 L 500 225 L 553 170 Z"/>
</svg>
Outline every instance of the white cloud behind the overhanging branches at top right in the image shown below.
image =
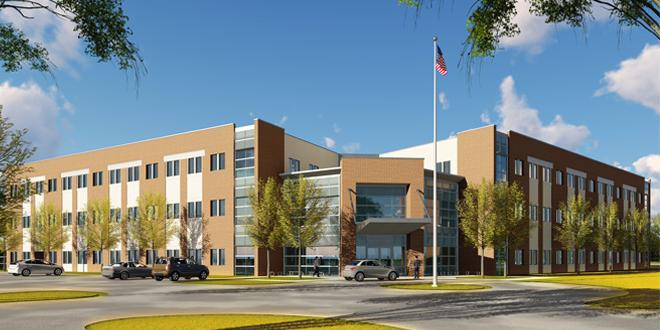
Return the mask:
<svg viewBox="0 0 660 330">
<path fill-rule="evenodd" d="M 539 54 L 543 51 L 553 26 L 547 24 L 544 17 L 530 13 L 529 8 L 530 4 L 527 1 L 516 2 L 516 16 L 513 18 L 513 23 L 518 24 L 520 34 L 513 38 L 502 38 L 501 46 L 519 48 L 531 54 Z"/>
</svg>

